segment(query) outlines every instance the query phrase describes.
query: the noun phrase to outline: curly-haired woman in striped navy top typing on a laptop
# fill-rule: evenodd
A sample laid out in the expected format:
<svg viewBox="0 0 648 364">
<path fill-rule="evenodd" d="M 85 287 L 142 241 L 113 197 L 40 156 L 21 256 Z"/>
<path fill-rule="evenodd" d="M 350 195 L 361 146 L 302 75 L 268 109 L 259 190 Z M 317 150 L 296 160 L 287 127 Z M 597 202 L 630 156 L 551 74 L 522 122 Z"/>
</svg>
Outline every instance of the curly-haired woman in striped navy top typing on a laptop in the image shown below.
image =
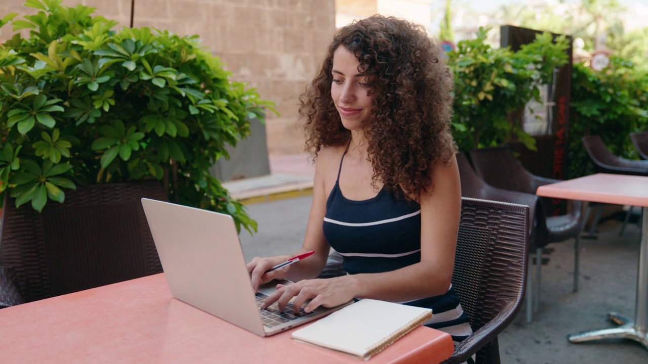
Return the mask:
<svg viewBox="0 0 648 364">
<path fill-rule="evenodd" d="M 295 281 L 278 285 L 266 306 L 283 310 L 293 297 L 306 312 L 354 298 L 402 302 L 432 308 L 426 324 L 455 341 L 470 334 L 450 285 L 461 187 L 448 131 L 452 74 L 440 53 L 422 27 L 394 17 L 338 30 L 300 98 L 316 172 L 297 254 L 315 253 L 267 273 L 292 255 L 249 262 L 255 289 Z M 314 279 L 331 247 L 349 275 Z"/>
</svg>

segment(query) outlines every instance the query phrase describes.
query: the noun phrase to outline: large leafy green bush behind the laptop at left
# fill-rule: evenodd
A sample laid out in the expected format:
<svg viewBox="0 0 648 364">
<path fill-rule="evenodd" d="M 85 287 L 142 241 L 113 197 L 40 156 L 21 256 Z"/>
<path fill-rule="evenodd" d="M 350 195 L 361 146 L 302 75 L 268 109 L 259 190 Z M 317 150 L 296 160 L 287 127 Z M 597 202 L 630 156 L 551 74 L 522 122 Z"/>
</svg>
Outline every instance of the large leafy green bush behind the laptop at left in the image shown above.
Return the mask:
<svg viewBox="0 0 648 364">
<path fill-rule="evenodd" d="M 0 46 L 0 194 L 41 211 L 65 191 L 157 179 L 170 200 L 256 229 L 209 168 L 272 103 L 229 80 L 198 36 L 121 28 L 94 8 L 27 0 Z"/>
</svg>

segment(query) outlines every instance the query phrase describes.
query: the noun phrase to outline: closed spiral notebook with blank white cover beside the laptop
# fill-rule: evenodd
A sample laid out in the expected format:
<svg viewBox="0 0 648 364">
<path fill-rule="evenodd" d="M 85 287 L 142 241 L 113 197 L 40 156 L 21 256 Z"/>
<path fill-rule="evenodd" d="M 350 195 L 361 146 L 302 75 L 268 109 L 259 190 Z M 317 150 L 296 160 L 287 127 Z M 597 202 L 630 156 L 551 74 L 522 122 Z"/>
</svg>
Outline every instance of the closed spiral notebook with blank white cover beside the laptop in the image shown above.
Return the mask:
<svg viewBox="0 0 648 364">
<path fill-rule="evenodd" d="M 432 317 L 432 310 L 363 299 L 292 333 L 292 338 L 369 359 Z"/>
</svg>

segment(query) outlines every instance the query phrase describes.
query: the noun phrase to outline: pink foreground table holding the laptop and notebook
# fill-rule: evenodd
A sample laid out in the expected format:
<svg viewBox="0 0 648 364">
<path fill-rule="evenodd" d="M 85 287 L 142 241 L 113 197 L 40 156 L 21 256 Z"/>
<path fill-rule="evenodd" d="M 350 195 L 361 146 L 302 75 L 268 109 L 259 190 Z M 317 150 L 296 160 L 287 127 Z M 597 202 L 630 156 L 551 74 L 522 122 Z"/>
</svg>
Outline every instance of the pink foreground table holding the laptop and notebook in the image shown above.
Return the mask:
<svg viewBox="0 0 648 364">
<path fill-rule="evenodd" d="M 3 363 L 364 363 L 222 321 L 171 297 L 163 274 L 0 310 Z M 450 335 L 420 327 L 369 363 L 439 363 Z"/>
</svg>

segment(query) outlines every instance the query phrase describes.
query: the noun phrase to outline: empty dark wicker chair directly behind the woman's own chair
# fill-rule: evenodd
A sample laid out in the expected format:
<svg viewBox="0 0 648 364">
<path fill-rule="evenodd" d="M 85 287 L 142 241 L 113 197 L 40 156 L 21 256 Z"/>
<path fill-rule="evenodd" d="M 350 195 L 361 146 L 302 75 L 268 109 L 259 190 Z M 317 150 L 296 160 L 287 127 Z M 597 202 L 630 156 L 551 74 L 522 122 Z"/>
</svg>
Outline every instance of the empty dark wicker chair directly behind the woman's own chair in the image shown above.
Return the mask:
<svg viewBox="0 0 648 364">
<path fill-rule="evenodd" d="M 529 251 L 537 251 L 548 244 L 549 231 L 546 226 L 546 218 L 540 198 L 535 194 L 503 190 L 502 188 L 492 187 L 487 184 L 470 165 L 465 154 L 457 154 L 457 166 L 459 167 L 459 177 L 461 177 L 461 196 L 477 199 L 488 199 L 491 201 L 501 201 L 506 203 L 517 203 L 529 207 Z M 536 263 L 539 264 L 539 255 L 535 256 Z M 536 273 L 538 275 L 539 272 Z M 529 278 L 533 275 L 529 275 Z M 538 306 L 539 292 L 533 290 L 533 280 L 527 281 L 527 305 L 526 305 L 526 322 L 533 321 L 533 307 Z"/>
</svg>

